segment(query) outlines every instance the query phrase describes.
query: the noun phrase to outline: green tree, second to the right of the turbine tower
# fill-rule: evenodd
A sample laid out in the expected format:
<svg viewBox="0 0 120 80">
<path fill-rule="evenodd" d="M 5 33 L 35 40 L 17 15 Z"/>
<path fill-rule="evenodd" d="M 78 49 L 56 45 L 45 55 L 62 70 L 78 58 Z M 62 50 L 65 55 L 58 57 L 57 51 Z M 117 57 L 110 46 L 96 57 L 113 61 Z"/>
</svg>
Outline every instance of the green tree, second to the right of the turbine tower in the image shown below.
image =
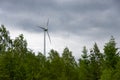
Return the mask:
<svg viewBox="0 0 120 80">
<path fill-rule="evenodd" d="M 65 66 L 67 80 L 78 80 L 77 63 L 68 48 L 63 50 L 62 59 Z"/>
</svg>

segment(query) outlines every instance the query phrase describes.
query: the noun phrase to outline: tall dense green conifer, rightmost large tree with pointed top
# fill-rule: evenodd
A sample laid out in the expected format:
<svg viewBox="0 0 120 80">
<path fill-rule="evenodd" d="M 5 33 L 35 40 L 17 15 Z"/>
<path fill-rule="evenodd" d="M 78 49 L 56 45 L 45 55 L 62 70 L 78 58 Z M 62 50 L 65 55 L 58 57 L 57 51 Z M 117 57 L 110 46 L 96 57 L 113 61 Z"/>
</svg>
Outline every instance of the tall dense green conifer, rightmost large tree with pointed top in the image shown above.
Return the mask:
<svg viewBox="0 0 120 80">
<path fill-rule="evenodd" d="M 104 56 L 104 68 L 100 80 L 116 80 L 114 75 L 118 74 L 115 74 L 115 71 L 119 61 L 119 53 L 113 36 L 111 36 L 109 42 L 104 46 Z"/>
</svg>

